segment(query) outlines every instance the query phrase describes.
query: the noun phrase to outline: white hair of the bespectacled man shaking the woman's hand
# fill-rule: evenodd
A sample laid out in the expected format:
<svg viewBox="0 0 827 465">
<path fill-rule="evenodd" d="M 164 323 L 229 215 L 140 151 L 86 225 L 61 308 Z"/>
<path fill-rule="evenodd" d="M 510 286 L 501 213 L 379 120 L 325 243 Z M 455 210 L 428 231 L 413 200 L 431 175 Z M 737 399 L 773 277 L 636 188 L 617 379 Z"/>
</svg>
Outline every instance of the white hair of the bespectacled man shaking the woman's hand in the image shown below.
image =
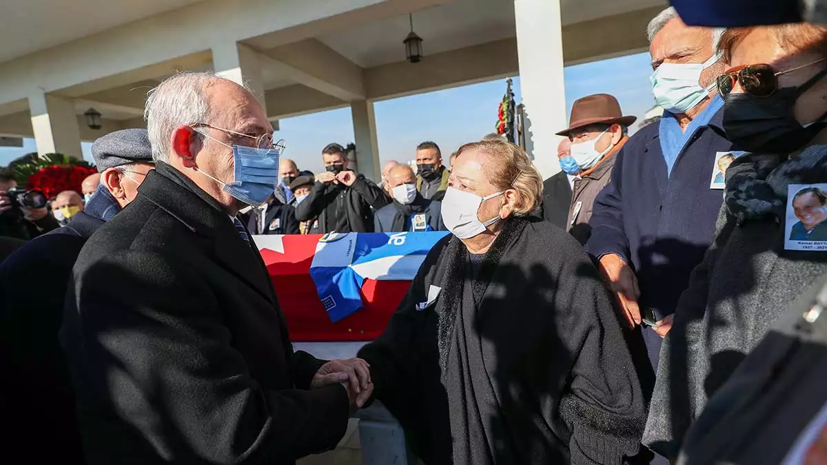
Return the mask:
<svg viewBox="0 0 827 465">
<path fill-rule="evenodd" d="M 213 119 L 205 91 L 211 84 L 225 80 L 237 84 L 210 71 L 179 73 L 147 93 L 144 118 L 153 160 L 167 161 L 175 128 Z"/>
</svg>

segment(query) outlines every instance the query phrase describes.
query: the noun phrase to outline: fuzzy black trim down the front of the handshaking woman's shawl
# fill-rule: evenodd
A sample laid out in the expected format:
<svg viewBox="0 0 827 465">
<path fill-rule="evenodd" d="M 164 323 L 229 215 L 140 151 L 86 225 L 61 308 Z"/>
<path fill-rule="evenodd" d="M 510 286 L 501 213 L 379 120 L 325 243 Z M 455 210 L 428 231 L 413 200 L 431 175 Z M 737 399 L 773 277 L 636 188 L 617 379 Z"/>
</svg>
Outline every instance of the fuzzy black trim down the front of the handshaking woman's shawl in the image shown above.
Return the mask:
<svg viewBox="0 0 827 465">
<path fill-rule="evenodd" d="M 482 302 L 485 290 L 497 266 L 500 264 L 504 253 L 523 234 L 523 229 L 528 225 L 525 218 L 509 218 L 505 220 L 500 235 L 494 240 L 494 244 L 485 253 L 480 273 L 471 283 L 471 291 L 476 303 Z M 466 261 L 468 260 L 468 249 L 457 237 L 452 237 L 445 251 L 447 260 L 445 285 L 442 287 L 444 293 L 437 308 L 439 324 L 437 329 L 437 345 L 439 348 L 439 364 L 444 372 L 447 369 L 448 354 L 451 351 L 451 341 L 454 333 L 454 324 L 457 322 L 457 309 L 462 308 L 463 280 L 466 278 Z"/>
</svg>

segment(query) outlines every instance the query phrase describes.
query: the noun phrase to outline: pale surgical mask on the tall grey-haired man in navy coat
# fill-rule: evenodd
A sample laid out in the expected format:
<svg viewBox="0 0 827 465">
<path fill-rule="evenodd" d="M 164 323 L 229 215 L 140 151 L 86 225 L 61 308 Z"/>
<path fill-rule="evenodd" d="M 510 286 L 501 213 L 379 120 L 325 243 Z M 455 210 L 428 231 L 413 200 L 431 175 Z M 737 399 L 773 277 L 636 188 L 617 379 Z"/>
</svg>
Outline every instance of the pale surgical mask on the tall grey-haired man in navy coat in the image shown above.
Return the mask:
<svg viewBox="0 0 827 465">
<path fill-rule="evenodd" d="M 671 113 L 686 113 L 695 108 L 715 88 L 714 80 L 709 88 L 700 87 L 700 74 L 715 65 L 720 57 L 712 55 L 703 63 L 663 63 L 658 66 L 649 76 L 655 103 Z"/>
</svg>

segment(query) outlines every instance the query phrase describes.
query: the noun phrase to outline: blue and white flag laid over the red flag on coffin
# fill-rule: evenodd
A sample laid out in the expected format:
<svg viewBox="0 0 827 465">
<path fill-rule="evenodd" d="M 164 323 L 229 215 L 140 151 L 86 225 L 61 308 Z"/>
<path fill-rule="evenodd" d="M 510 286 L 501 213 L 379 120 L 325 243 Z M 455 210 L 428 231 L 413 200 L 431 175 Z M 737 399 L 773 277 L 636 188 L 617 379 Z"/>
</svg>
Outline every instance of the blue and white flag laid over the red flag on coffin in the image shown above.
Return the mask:
<svg viewBox="0 0 827 465">
<path fill-rule="evenodd" d="M 349 232 L 318 240 L 310 277 L 333 322 L 362 308 L 370 280 L 413 280 L 431 248 L 448 232 Z"/>
</svg>

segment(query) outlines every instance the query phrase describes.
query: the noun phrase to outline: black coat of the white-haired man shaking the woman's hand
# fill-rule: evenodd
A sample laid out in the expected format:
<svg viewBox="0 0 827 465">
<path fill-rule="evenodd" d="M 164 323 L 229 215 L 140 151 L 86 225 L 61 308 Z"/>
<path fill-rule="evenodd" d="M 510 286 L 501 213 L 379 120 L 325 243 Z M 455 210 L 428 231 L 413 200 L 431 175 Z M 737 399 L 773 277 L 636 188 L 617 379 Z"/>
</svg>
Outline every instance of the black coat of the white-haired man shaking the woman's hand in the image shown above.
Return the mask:
<svg viewBox="0 0 827 465">
<path fill-rule="evenodd" d="M 164 163 L 80 252 L 64 322 L 88 463 L 293 463 L 347 428 L 255 244 Z"/>
</svg>

